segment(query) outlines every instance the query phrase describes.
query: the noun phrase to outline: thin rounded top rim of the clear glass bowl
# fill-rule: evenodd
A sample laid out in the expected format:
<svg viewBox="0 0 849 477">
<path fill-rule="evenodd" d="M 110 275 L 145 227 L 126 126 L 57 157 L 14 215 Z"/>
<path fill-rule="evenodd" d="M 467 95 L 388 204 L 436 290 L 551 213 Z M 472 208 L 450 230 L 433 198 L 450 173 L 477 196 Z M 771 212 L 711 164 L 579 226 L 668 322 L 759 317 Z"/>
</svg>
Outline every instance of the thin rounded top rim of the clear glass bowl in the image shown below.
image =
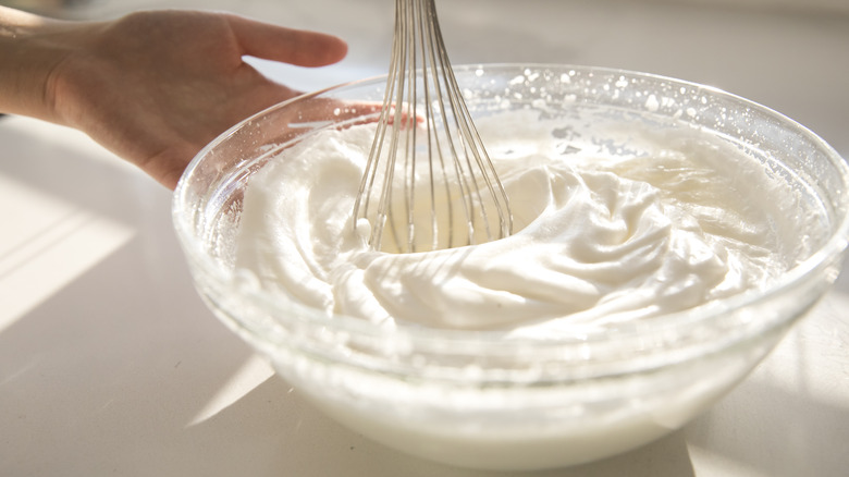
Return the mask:
<svg viewBox="0 0 849 477">
<path fill-rule="evenodd" d="M 766 114 L 777 120 L 782 127 L 785 130 L 792 129 L 798 134 L 804 136 L 812 145 L 819 150 L 822 150 L 832 161 L 833 166 L 841 171 L 842 183 L 849 188 L 849 164 L 822 137 L 813 133 L 808 127 L 798 123 L 797 121 L 788 118 L 787 115 L 775 111 L 768 107 L 756 103 L 752 100 L 746 99 L 741 96 L 728 93 L 714 86 L 699 84 L 686 80 L 679 80 L 670 76 L 644 73 L 639 71 L 605 68 L 605 66 L 590 66 L 578 65 L 567 63 L 469 63 L 459 64 L 453 66 L 455 72 L 475 72 L 479 69 L 485 71 L 524 71 L 528 69 L 537 70 L 557 70 L 557 71 L 581 71 L 587 73 L 604 73 L 604 74 L 620 74 L 630 77 L 645 78 L 654 82 L 663 82 L 676 86 L 685 86 L 688 88 L 696 88 L 712 96 L 722 97 L 728 100 L 736 101 L 747 108 L 755 110 L 762 114 Z M 279 109 L 286 108 L 292 103 L 300 102 L 317 96 L 321 96 L 335 90 L 343 90 L 354 88 L 357 86 L 364 86 L 368 84 L 379 84 L 379 82 L 385 82 L 386 75 L 374 75 L 365 78 L 359 78 L 350 82 L 345 82 L 336 85 L 332 85 L 325 88 L 317 89 L 313 91 L 305 93 L 299 96 L 290 98 L 285 101 L 273 105 L 266 108 L 243 121 L 236 123 L 224 133 L 220 134 L 212 142 L 207 144 L 197 155 L 192 159 L 186 167 L 183 175 L 181 176 L 177 186 L 174 189 L 172 200 L 172 219 L 174 229 L 177 235 L 177 240 L 183 248 L 184 254 L 192 260 L 195 266 L 200 267 L 202 272 L 207 277 L 211 277 L 218 283 L 227 283 L 233 279 L 233 274 L 226 272 L 221 267 L 217 267 L 209 260 L 201 250 L 201 247 L 197 243 L 197 237 L 193 232 L 193 227 L 186 223 L 184 218 L 187 216 L 183 211 L 185 209 L 186 196 L 187 196 L 187 183 L 193 172 L 199 167 L 204 158 L 221 143 L 227 140 L 235 132 L 246 126 L 247 124 L 270 114 Z M 849 209 L 849 192 L 844 191 L 841 196 L 842 203 Z M 673 331 L 673 335 L 678 339 L 687 334 L 687 330 L 691 330 L 694 325 L 707 325 L 721 320 L 723 316 L 734 310 L 739 310 L 743 307 L 754 306 L 761 302 L 771 299 L 775 295 L 784 293 L 786 290 L 795 286 L 798 282 L 802 281 L 805 277 L 814 273 L 819 269 L 827 268 L 833 265 L 835 260 L 841 260 L 841 255 L 849 244 L 849 213 L 839 217 L 839 222 L 836 223 L 834 231 L 828 240 L 814 253 L 812 253 L 807 259 L 799 262 L 792 269 L 783 273 L 777 278 L 767 289 L 745 291 L 730 295 L 725 298 L 719 298 L 715 302 L 711 302 L 711 306 L 697 306 L 694 308 L 688 308 L 670 314 L 660 315 L 653 317 L 651 320 L 631 320 L 624 323 L 618 323 L 615 330 L 605 330 L 603 332 L 590 332 L 580 335 L 575 335 L 571 339 L 558 338 L 554 340 L 541 340 L 538 338 L 512 338 L 508 342 L 503 341 L 504 330 L 462 330 L 462 329 L 443 329 L 443 328 L 424 328 L 421 326 L 414 326 L 407 323 L 401 323 L 394 328 L 386 328 L 378 326 L 369 320 L 362 318 L 346 316 L 342 314 L 328 315 L 323 310 L 312 308 L 299 303 L 286 303 L 285 309 L 281 307 L 274 301 L 276 292 L 268 292 L 263 290 L 242 290 L 243 293 L 249 299 L 254 299 L 261 303 L 264 307 L 270 307 L 275 313 L 275 320 L 288 319 L 287 314 L 291 314 L 293 308 L 298 311 L 298 315 L 308 315 L 310 321 L 316 321 L 317 325 L 328 326 L 332 325 L 332 328 L 336 331 L 346 332 L 357 335 L 368 335 L 372 338 L 383 339 L 387 335 L 393 338 L 403 335 L 414 342 L 452 342 L 452 343 L 492 343 L 499 342 L 504 346 L 564 346 L 574 344 L 587 344 L 593 342 L 620 342 L 622 340 L 633 340 L 640 337 L 647 337 L 648 334 L 657 334 L 661 331 Z M 194 273 L 194 272 L 193 272 Z M 836 278 L 836 277 L 835 277 Z M 750 330 L 751 332 L 763 332 L 767 329 L 772 329 L 782 325 L 783 320 L 778 322 L 764 322 L 760 329 Z M 241 326 L 241 323 L 234 323 Z M 678 331 L 684 330 L 684 333 Z M 254 333 L 251 330 L 246 330 Z M 257 337 L 260 340 L 267 340 L 268 337 Z M 728 343 L 728 345 L 733 342 Z"/>
</svg>

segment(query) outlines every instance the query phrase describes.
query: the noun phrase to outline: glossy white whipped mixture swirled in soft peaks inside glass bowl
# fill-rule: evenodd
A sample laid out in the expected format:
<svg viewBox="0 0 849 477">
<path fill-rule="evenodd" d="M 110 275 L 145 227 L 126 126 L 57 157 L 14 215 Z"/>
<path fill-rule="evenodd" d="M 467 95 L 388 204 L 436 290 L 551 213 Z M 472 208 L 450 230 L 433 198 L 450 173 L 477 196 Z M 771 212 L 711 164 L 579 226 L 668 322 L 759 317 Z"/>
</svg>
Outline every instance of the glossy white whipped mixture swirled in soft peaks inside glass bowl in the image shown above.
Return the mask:
<svg viewBox="0 0 849 477">
<path fill-rule="evenodd" d="M 510 200 L 509 237 L 370 249 L 367 227 L 352 227 L 374 134 L 365 124 L 320 132 L 251 176 L 236 268 L 263 289 L 387 327 L 553 335 L 761 289 L 804 247 L 793 236 L 804 219 L 787 213 L 796 194 L 731 144 L 623 123 L 610 133 L 640 151 L 628 154 L 566 142 L 568 126 L 540 121 L 520 111 L 478 121 Z"/>
</svg>

